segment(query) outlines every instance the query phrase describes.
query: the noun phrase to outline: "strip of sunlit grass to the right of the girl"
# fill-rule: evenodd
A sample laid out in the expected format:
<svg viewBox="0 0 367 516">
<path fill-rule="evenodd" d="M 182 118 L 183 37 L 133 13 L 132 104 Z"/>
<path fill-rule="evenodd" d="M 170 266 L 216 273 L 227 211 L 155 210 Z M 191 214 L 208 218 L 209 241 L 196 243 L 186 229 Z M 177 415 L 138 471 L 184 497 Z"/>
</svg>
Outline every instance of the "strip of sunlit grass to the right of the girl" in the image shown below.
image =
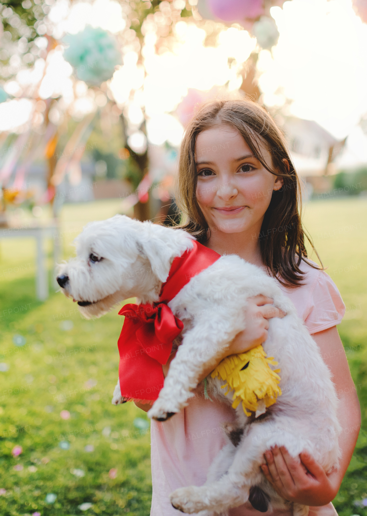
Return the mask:
<svg viewBox="0 0 367 516">
<path fill-rule="evenodd" d="M 349 183 L 350 184 L 350 183 Z M 339 516 L 367 516 L 367 507 L 355 505 L 367 498 L 367 218 L 365 198 L 310 202 L 304 221 L 326 272 L 336 283 L 346 305 L 338 326 L 362 413 L 362 429 L 354 456 L 333 504 Z M 315 256 L 311 259 L 316 261 Z M 345 433 L 348 424 L 345 424 Z M 361 504 L 362 505 L 362 504 Z"/>
</svg>

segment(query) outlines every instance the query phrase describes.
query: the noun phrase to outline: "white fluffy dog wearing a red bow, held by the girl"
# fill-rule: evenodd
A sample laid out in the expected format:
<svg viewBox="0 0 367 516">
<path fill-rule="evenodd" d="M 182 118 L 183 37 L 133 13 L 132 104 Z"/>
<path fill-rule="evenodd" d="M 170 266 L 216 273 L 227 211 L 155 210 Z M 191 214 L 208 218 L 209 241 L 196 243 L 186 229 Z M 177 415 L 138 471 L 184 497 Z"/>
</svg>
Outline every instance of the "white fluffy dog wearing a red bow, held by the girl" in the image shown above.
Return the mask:
<svg viewBox="0 0 367 516">
<path fill-rule="evenodd" d="M 92 222 L 76 239 L 77 257 L 60 266 L 58 282 L 79 305 L 88 305 L 87 317 L 99 317 L 130 297 L 153 303 L 174 257 L 190 249 L 192 241 L 185 231 L 120 215 Z M 247 298 L 258 294 L 273 298 L 287 314 L 270 319 L 263 343 L 279 363 L 282 395 L 259 418 L 246 417 L 238 406 L 237 424 L 228 429 L 228 444 L 213 461 L 205 485 L 171 494 L 172 505 L 182 512 L 225 512 L 245 503 L 255 489 L 265 510 L 270 502 L 273 508 L 293 507 L 294 516 L 306 516 L 307 506 L 285 501 L 261 473 L 264 451 L 271 446 L 286 446 L 292 457 L 306 450 L 326 473 L 338 467 L 338 401 L 320 351 L 277 281 L 237 255 L 220 257 L 169 302 L 185 325 L 183 338 L 148 416 L 162 421 L 188 405 L 202 371 L 211 364 L 214 368 L 219 350 L 245 328 Z M 209 380 L 209 388 L 231 403 L 220 385 Z M 118 383 L 112 402 L 123 401 Z"/>
</svg>

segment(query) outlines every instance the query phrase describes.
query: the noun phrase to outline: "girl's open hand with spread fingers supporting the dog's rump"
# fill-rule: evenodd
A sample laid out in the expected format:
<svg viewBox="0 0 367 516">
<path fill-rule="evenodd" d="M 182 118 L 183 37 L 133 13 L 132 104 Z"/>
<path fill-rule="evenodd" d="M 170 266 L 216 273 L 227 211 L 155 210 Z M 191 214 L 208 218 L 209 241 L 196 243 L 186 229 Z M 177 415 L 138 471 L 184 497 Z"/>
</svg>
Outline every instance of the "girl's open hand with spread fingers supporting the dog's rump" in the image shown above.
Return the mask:
<svg viewBox="0 0 367 516">
<path fill-rule="evenodd" d="M 266 464 L 261 469 L 275 491 L 289 502 L 320 506 L 335 498 L 338 475 L 326 475 L 321 465 L 306 452 L 297 458 L 289 455 L 284 446 L 265 451 Z"/>
</svg>

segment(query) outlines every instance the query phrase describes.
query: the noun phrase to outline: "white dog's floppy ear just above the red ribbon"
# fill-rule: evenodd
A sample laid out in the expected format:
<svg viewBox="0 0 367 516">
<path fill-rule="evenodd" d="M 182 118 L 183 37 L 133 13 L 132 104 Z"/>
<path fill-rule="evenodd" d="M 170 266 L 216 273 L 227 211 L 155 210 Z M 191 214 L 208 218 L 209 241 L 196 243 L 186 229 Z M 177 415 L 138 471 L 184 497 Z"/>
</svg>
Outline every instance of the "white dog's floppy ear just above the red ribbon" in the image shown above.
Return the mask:
<svg viewBox="0 0 367 516">
<path fill-rule="evenodd" d="M 144 235 L 137 241 L 137 247 L 139 253 L 149 260 L 155 276 L 164 283 L 168 278 L 172 260 L 175 256 L 172 247 L 156 235 Z"/>
</svg>

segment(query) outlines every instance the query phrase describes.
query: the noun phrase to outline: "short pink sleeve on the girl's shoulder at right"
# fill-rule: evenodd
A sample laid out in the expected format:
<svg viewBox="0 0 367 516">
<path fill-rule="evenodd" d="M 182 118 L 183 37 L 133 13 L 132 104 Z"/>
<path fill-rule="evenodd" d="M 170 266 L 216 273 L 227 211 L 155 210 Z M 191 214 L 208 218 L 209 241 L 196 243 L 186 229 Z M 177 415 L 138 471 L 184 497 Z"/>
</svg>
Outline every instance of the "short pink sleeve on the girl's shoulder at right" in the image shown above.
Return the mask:
<svg viewBox="0 0 367 516">
<path fill-rule="evenodd" d="M 338 287 L 326 272 L 320 270 L 311 293 L 305 325 L 312 335 L 340 324 L 344 314 L 345 304 Z"/>
</svg>

